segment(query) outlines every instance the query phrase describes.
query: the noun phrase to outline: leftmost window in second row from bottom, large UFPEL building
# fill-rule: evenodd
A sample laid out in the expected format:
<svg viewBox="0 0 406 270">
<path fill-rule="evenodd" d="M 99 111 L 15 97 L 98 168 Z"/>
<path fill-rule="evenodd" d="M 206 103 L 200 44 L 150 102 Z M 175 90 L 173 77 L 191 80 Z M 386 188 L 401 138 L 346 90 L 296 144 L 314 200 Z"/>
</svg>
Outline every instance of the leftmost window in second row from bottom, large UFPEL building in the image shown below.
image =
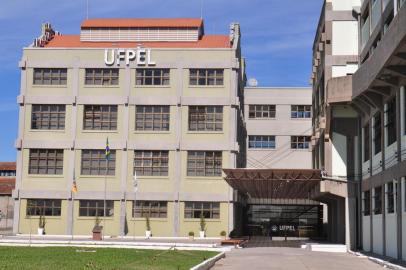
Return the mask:
<svg viewBox="0 0 406 270">
<path fill-rule="evenodd" d="M 62 174 L 63 150 L 30 149 L 29 174 Z"/>
</svg>

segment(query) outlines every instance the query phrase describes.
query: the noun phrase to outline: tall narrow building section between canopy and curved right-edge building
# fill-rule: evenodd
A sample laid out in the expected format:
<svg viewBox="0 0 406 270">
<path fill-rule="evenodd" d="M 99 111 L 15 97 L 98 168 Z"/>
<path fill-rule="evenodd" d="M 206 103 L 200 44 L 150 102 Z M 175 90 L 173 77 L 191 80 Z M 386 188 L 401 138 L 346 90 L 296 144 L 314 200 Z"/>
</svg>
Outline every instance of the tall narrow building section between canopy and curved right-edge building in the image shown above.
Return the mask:
<svg viewBox="0 0 406 270">
<path fill-rule="evenodd" d="M 328 240 L 356 245 L 357 111 L 351 106 L 352 76 L 358 68 L 360 1 L 326 0 L 313 44 L 313 166 L 324 180 L 312 198 L 328 206 Z M 348 184 L 347 184 L 348 183 Z M 345 226 L 343 226 L 345 224 Z"/>
</svg>

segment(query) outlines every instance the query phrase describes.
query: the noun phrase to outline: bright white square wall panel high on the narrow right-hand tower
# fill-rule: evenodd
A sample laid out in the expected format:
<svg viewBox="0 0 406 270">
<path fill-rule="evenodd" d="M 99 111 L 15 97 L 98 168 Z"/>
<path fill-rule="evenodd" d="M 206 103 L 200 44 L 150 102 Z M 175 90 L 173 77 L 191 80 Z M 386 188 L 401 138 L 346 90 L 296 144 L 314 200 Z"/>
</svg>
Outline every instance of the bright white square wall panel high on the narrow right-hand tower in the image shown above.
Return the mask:
<svg viewBox="0 0 406 270">
<path fill-rule="evenodd" d="M 333 21 L 333 55 L 358 54 L 358 22 Z"/>
</svg>

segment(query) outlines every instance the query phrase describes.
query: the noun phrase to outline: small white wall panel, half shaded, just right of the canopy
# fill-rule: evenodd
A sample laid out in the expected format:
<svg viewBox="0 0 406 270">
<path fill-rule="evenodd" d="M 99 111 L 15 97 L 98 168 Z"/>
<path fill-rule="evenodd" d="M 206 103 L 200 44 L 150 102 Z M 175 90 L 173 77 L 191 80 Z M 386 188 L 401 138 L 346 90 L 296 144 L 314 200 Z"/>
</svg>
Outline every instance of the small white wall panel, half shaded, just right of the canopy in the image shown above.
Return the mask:
<svg viewBox="0 0 406 270">
<path fill-rule="evenodd" d="M 334 176 L 347 175 L 347 138 L 333 132 L 332 137 L 332 174 Z"/>
</svg>

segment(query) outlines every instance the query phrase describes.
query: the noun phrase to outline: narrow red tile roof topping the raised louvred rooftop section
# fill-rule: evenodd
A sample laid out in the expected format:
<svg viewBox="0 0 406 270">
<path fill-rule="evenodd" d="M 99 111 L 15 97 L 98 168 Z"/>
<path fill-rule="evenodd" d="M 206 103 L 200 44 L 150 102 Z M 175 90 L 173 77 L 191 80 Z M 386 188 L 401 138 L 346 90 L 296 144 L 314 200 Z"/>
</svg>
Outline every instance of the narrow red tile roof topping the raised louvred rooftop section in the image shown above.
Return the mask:
<svg viewBox="0 0 406 270">
<path fill-rule="evenodd" d="M 203 26 L 202 19 L 174 18 L 174 19 L 88 19 L 82 22 L 82 28 L 101 27 L 192 27 Z"/>
</svg>

